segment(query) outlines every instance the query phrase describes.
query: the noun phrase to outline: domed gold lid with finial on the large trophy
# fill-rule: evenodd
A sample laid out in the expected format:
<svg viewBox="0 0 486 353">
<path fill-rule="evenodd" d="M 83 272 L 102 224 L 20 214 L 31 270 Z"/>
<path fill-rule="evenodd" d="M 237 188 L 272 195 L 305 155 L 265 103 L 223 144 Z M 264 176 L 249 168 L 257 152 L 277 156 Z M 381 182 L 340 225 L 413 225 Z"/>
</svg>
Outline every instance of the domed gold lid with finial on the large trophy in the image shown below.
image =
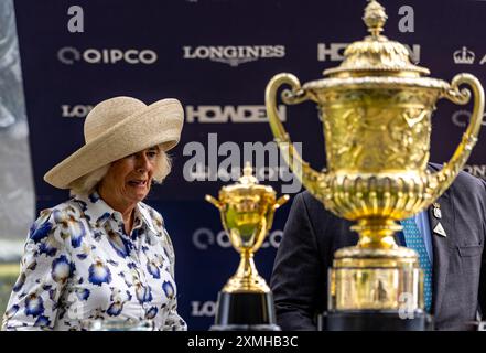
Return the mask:
<svg viewBox="0 0 486 353">
<path fill-rule="evenodd" d="M 411 63 L 410 53 L 404 45 L 380 34 L 388 17 L 378 1 L 368 1 L 363 20 L 371 35 L 352 43 L 344 53 L 343 63 L 337 67 L 325 69 L 323 74 L 331 77 L 429 75 L 428 68 Z"/>
</svg>

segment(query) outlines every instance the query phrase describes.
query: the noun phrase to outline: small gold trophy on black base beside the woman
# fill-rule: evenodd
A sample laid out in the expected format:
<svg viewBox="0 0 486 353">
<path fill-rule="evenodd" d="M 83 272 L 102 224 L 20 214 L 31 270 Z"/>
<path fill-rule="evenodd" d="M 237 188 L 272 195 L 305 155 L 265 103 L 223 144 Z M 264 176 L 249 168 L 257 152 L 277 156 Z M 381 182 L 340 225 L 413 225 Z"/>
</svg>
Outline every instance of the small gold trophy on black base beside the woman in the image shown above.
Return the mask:
<svg viewBox="0 0 486 353">
<path fill-rule="evenodd" d="M 241 260 L 218 295 L 214 331 L 277 331 L 273 297 L 264 279 L 258 275 L 253 254 L 260 248 L 272 226 L 274 211 L 289 200 L 276 200 L 271 186 L 260 185 L 247 163 L 237 183 L 223 186 L 219 200 L 206 201 L 220 212 L 223 227 Z"/>
</svg>

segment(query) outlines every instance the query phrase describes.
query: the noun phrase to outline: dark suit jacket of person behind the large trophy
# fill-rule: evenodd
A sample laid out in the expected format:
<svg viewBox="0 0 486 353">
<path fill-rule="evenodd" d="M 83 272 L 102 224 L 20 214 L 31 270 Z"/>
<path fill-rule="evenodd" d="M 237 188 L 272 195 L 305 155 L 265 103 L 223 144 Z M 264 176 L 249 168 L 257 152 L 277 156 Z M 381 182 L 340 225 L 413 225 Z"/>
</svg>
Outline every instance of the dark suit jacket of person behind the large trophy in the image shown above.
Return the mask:
<svg viewBox="0 0 486 353">
<path fill-rule="evenodd" d="M 465 330 L 465 323 L 477 320 L 480 308 L 486 314 L 486 183 L 461 172 L 438 202 L 441 220 L 429 210 L 434 325 L 438 330 Z M 438 222 L 446 237 L 433 232 Z M 295 196 L 271 277 L 277 322 L 282 330 L 316 329 L 316 314 L 326 310 L 333 254 L 358 240 L 350 225 L 309 192 Z"/>
</svg>

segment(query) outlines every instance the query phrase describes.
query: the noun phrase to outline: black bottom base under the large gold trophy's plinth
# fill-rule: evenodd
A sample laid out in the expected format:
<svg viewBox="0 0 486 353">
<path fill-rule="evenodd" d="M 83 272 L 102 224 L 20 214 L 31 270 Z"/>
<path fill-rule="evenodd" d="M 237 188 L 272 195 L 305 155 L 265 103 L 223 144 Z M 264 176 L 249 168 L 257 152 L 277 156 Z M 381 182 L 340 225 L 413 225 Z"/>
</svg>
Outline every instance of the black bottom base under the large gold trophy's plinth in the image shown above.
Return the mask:
<svg viewBox="0 0 486 353">
<path fill-rule="evenodd" d="M 318 317 L 320 331 L 431 331 L 432 317 L 422 310 L 401 319 L 396 310 L 328 311 Z"/>
</svg>

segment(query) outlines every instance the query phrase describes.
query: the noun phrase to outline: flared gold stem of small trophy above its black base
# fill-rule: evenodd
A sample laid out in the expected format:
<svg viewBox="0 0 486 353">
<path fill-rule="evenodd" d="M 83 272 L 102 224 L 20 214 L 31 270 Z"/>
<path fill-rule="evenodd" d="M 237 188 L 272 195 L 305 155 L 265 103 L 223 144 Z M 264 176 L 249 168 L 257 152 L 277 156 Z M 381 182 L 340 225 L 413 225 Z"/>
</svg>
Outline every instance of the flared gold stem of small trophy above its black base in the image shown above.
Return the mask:
<svg viewBox="0 0 486 353">
<path fill-rule="evenodd" d="M 226 286 L 223 288 L 224 292 L 270 292 L 266 280 L 258 275 L 257 267 L 253 261 L 253 253 L 242 250 L 240 253 L 241 259 L 239 261 L 238 270 L 233 276 Z"/>
</svg>

